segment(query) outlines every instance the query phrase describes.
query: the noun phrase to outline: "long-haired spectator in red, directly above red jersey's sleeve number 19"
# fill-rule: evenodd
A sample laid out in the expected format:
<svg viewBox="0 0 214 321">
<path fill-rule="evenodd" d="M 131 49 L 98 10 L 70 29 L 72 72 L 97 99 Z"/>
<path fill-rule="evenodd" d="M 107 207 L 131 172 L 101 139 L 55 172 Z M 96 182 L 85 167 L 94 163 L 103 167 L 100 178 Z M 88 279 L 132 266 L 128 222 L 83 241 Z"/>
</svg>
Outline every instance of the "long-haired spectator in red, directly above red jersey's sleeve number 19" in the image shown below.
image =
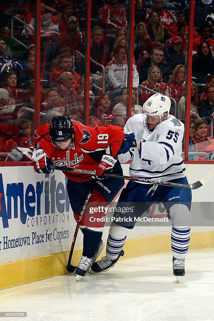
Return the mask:
<svg viewBox="0 0 214 321">
<path fill-rule="evenodd" d="M 105 93 L 102 95 L 97 109 L 97 118 L 101 116 L 105 125 L 110 125 L 112 118 L 115 116 L 115 113 L 111 111 L 110 106 L 111 97 Z"/>
</svg>

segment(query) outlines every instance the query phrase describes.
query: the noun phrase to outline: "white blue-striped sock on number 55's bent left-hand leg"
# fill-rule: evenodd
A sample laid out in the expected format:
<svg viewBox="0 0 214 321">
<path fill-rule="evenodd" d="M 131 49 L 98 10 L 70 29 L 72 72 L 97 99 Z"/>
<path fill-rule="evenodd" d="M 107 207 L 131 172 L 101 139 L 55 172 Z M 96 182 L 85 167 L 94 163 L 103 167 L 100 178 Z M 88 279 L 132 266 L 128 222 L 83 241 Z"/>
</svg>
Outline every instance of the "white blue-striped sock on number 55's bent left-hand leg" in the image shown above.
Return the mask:
<svg viewBox="0 0 214 321">
<path fill-rule="evenodd" d="M 111 224 L 106 244 L 106 255 L 111 260 L 115 260 L 120 254 L 128 233 L 129 229 L 118 226 L 114 223 Z"/>
</svg>

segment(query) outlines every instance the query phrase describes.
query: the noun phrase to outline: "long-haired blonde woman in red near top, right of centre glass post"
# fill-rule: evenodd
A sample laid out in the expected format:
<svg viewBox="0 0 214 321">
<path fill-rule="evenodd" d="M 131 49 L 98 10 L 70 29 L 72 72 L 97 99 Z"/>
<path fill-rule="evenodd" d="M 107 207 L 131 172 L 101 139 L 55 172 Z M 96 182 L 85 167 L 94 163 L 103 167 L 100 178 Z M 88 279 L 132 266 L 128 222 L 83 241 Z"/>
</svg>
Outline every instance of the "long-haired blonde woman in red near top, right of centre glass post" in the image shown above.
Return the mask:
<svg viewBox="0 0 214 321">
<path fill-rule="evenodd" d="M 142 0 L 139 1 L 142 2 Z M 151 38 L 143 22 L 137 24 L 134 42 L 134 56 L 137 63 L 138 60 L 141 60 L 143 56 L 147 55 L 151 46 Z"/>
</svg>

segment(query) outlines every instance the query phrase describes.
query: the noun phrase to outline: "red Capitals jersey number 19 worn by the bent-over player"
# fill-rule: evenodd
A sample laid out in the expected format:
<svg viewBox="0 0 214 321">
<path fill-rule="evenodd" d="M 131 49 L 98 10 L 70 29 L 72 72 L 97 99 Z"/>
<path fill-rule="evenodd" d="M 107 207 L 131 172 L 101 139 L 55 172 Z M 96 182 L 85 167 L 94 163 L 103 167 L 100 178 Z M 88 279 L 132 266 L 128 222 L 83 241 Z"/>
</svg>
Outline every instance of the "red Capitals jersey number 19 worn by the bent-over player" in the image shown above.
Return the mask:
<svg viewBox="0 0 214 321">
<path fill-rule="evenodd" d="M 120 127 L 90 128 L 73 123 L 74 142 L 70 148 L 60 150 L 51 143 L 49 127 L 49 124 L 44 124 L 35 131 L 33 141 L 36 149 L 43 149 L 53 165 L 69 167 L 71 171 L 63 173 L 76 182 L 89 180 L 104 154 L 115 157 L 124 138 Z"/>
</svg>

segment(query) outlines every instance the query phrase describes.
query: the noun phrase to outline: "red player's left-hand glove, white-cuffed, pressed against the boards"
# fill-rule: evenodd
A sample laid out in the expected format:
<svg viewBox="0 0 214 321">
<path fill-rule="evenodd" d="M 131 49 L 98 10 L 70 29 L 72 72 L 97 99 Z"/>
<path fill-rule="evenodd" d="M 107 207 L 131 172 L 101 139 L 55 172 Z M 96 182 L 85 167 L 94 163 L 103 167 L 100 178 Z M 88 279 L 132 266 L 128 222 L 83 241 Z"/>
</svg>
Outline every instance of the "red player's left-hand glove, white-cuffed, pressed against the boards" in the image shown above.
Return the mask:
<svg viewBox="0 0 214 321">
<path fill-rule="evenodd" d="M 32 153 L 34 160 L 34 169 L 37 173 L 50 174 L 53 169 L 50 169 L 51 160 L 43 149 L 36 149 Z"/>
</svg>

